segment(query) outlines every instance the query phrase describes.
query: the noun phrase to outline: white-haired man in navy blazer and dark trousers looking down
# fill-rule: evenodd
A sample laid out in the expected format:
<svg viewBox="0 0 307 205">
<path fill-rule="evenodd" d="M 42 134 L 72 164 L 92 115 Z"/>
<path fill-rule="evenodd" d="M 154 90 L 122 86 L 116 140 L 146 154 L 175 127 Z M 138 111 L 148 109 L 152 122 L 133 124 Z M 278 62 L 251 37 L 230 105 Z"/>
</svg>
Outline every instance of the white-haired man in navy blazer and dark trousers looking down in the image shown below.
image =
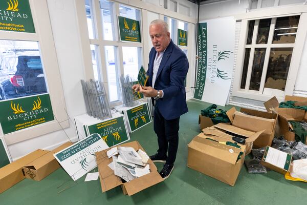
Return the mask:
<svg viewBox="0 0 307 205">
<path fill-rule="evenodd" d="M 163 20 L 150 23 L 149 35 L 153 48 L 149 53 L 148 83 L 132 88 L 155 99 L 153 128 L 159 149 L 150 159 L 165 162 L 160 175 L 166 179 L 173 170 L 178 150 L 180 115 L 188 112 L 184 80 L 189 63 L 185 53 L 170 39 L 168 25 Z"/>
</svg>

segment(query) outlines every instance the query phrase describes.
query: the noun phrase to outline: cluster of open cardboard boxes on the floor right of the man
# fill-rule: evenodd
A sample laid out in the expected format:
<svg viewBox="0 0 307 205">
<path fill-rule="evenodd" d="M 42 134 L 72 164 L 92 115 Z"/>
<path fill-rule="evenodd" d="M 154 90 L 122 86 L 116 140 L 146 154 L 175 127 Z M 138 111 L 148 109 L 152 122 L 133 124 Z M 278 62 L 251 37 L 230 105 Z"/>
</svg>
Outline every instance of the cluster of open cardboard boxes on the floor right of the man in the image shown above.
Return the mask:
<svg viewBox="0 0 307 205">
<path fill-rule="evenodd" d="M 288 100 L 297 101 L 295 106 L 307 106 L 307 98 L 304 97 L 286 96 L 285 101 Z M 188 144 L 187 166 L 234 186 L 244 157 L 237 160 L 239 150 L 221 142 L 235 140 L 243 143 L 238 145 L 244 150 L 245 155 L 249 154 L 253 147 L 266 147 L 261 164 L 276 172 L 287 173 L 292 155 L 270 146 L 274 135 L 283 135 L 287 140 L 294 141 L 295 133 L 292 132 L 291 124 L 288 122 L 307 121 L 307 112 L 294 108 L 279 108 L 276 97 L 267 101 L 265 107 L 268 112 L 246 108 L 241 108 L 238 112 L 233 107 L 226 112 L 230 124 L 213 125 L 210 118 L 200 115 L 199 124 L 202 133 L 195 136 Z"/>
</svg>

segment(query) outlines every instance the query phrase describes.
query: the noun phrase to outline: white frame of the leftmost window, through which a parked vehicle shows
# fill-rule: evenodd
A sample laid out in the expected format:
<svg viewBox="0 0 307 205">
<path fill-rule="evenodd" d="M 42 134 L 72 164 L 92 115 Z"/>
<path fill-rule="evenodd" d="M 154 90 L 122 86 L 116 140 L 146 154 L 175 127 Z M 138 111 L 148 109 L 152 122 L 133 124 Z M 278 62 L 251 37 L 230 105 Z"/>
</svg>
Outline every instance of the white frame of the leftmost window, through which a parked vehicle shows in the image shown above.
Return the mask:
<svg viewBox="0 0 307 205">
<path fill-rule="evenodd" d="M 29 0 L 35 33 L 0 31 L 4 40 L 29 40 L 38 42 L 55 119 L 30 128 L 4 135 L 7 145 L 45 135 L 69 127 L 69 116 L 65 108 L 62 81 L 52 35 L 47 1 Z M 39 20 L 38 20 L 39 19 Z M 48 39 L 48 40 L 47 40 Z M 1 131 L 2 135 L 3 132 Z"/>
</svg>

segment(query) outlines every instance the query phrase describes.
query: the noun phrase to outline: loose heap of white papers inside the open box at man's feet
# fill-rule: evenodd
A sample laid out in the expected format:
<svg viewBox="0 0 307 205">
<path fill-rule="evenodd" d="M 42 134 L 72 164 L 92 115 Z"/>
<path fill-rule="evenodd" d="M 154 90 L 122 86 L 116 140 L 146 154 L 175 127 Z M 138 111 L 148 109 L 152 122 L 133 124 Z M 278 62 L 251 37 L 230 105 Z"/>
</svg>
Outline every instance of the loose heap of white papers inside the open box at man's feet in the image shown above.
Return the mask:
<svg viewBox="0 0 307 205">
<path fill-rule="evenodd" d="M 109 150 L 107 155 L 113 159 L 108 167 L 114 171 L 116 176 L 127 182 L 150 173 L 147 163 L 149 157 L 142 150 L 137 152 L 131 147 L 118 147 Z"/>
</svg>

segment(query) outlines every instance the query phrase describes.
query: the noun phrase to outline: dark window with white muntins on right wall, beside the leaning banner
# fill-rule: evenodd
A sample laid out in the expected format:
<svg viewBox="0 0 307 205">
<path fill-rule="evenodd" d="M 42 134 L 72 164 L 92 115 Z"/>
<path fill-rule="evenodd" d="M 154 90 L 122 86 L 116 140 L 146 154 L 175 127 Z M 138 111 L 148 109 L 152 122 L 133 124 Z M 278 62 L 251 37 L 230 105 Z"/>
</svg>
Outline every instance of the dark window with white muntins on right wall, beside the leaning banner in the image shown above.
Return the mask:
<svg viewBox="0 0 307 205">
<path fill-rule="evenodd" d="M 300 15 L 248 20 L 239 92 L 285 94 Z"/>
</svg>

